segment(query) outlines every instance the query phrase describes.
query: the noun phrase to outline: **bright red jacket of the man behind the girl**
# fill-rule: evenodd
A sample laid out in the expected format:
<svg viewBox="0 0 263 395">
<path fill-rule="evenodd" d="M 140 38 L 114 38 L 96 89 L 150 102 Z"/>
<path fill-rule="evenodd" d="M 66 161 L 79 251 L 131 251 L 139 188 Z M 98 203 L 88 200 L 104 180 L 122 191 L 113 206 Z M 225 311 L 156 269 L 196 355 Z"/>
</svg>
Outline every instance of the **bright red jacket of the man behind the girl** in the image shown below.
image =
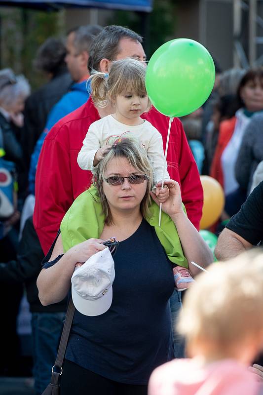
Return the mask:
<svg viewBox="0 0 263 395">
<path fill-rule="evenodd" d="M 151 109 L 142 116 L 162 134 L 165 148 L 169 118 Z M 89 125 L 100 116 L 91 99 L 57 122 L 47 134 L 38 160 L 34 225 L 46 254 L 60 223 L 74 199 L 89 185 L 91 172 L 81 170 L 77 154 Z M 179 119 L 171 127 L 167 153 L 168 171 L 179 182 L 188 217 L 198 228 L 202 215 L 203 190 L 197 166 Z"/>
</svg>

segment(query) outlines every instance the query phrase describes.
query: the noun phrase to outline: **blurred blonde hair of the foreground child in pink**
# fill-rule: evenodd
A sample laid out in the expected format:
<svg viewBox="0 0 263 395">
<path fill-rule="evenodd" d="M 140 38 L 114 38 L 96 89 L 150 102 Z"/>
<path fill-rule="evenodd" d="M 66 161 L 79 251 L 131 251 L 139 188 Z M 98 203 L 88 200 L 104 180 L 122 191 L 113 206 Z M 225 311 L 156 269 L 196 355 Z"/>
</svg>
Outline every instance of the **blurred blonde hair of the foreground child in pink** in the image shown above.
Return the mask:
<svg viewBox="0 0 263 395">
<path fill-rule="evenodd" d="M 224 350 L 263 333 L 263 253 L 244 253 L 211 265 L 187 291 L 178 331 L 188 345 Z M 259 345 L 259 348 L 262 345 Z"/>
</svg>

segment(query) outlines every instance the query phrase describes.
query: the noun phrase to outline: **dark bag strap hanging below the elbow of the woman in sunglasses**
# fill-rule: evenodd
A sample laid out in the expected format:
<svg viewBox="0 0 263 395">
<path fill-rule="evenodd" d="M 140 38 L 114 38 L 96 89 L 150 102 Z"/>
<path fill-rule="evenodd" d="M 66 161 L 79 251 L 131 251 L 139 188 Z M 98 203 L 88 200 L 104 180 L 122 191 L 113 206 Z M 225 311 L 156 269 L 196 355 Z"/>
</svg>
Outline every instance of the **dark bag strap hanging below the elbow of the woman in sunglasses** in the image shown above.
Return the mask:
<svg viewBox="0 0 263 395">
<path fill-rule="evenodd" d="M 55 364 L 52 367 L 52 377 L 50 383 L 54 385 L 58 385 L 59 376 L 62 374 L 62 364 L 66 353 L 66 348 L 70 336 L 70 330 L 71 330 L 74 313 L 75 313 L 75 306 L 73 304 L 72 298 L 70 298 L 70 303 L 67 309 L 66 319 L 64 322 L 62 335 L 59 343 L 58 355 Z M 60 372 L 55 372 L 54 371 L 55 367 L 60 369 Z"/>
</svg>

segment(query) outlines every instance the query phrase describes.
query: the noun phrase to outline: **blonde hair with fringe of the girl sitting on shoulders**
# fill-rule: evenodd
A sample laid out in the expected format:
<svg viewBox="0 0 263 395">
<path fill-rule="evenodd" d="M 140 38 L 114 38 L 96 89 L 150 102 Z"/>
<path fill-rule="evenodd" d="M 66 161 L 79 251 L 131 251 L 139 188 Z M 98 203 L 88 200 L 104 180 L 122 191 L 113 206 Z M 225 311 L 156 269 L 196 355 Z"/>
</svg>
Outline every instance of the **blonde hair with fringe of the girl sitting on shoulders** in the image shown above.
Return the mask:
<svg viewBox="0 0 263 395">
<path fill-rule="evenodd" d="M 135 91 L 139 96 L 147 95 L 145 87 L 146 66 L 135 58 L 112 62 L 109 75 L 94 71 L 90 76 L 92 100 L 98 107 L 114 105 L 116 96 L 122 92 Z M 150 109 L 148 98 L 148 108 Z"/>
</svg>

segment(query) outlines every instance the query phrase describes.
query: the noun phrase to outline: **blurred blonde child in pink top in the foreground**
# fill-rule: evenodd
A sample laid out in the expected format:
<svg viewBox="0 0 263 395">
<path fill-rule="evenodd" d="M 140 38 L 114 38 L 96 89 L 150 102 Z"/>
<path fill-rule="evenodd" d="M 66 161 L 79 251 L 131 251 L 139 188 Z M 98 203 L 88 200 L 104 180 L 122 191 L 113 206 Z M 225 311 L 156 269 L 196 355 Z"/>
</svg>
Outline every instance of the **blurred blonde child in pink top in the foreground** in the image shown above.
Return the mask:
<svg viewBox="0 0 263 395">
<path fill-rule="evenodd" d="M 155 369 L 149 395 L 260 395 L 248 366 L 263 348 L 263 254 L 212 265 L 187 291 L 178 331 L 191 359 Z"/>
</svg>

